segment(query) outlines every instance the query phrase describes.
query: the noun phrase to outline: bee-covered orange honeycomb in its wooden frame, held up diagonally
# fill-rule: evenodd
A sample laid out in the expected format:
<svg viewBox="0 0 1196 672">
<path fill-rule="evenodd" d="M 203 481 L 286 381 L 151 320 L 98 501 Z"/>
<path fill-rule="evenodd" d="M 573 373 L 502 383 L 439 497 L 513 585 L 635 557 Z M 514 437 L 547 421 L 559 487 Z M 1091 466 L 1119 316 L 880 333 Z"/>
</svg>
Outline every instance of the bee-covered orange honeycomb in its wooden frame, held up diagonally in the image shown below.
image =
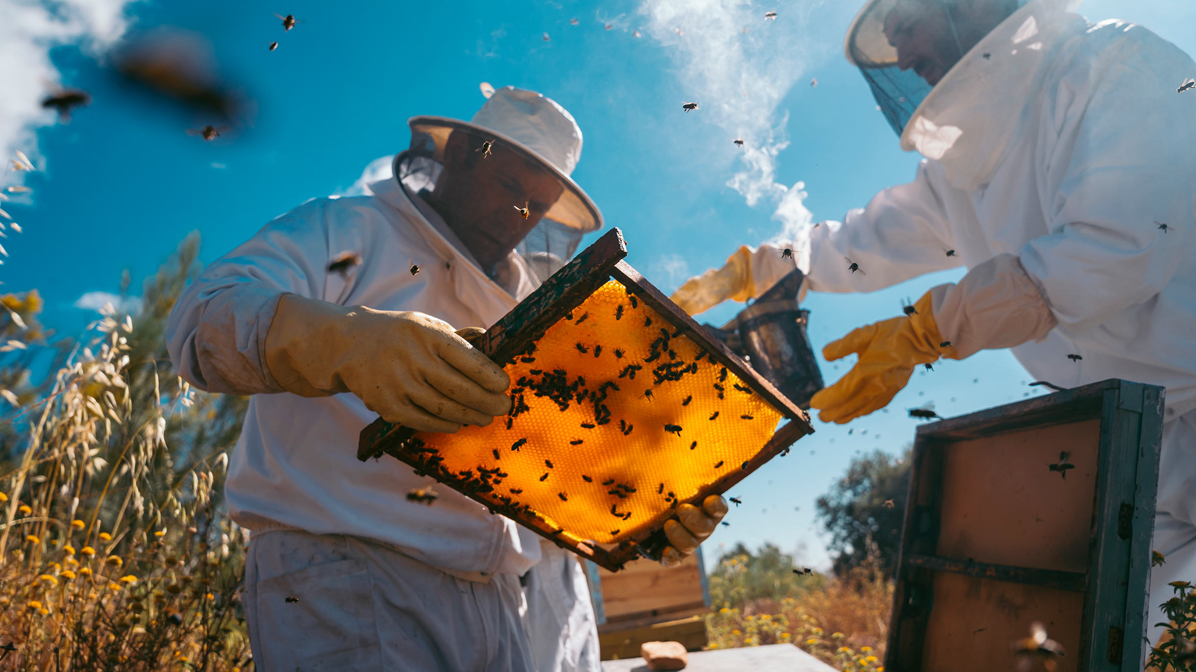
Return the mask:
<svg viewBox="0 0 1196 672">
<path fill-rule="evenodd" d="M 474 342 L 511 377 L 506 417 L 456 434 L 379 419 L 359 459 L 393 456 L 612 572 L 659 558 L 678 505 L 813 429 L 626 256 L 614 228 Z"/>
</svg>

